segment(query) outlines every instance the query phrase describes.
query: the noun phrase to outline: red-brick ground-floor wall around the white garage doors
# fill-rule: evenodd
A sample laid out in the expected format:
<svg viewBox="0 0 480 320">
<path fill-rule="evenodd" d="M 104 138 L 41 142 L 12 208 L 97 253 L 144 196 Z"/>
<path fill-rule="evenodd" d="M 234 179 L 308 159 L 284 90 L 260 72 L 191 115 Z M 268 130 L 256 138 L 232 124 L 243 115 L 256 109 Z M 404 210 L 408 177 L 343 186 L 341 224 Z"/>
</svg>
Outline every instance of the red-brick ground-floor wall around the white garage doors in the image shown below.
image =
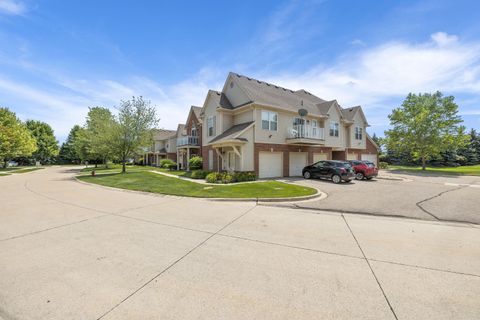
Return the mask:
<svg viewBox="0 0 480 320">
<path fill-rule="evenodd" d="M 307 152 L 307 162 L 313 163 L 314 153 L 326 153 L 327 159 L 332 158 L 332 148 L 329 147 L 317 147 L 317 146 L 296 146 L 289 144 L 268 144 L 268 143 L 255 143 L 254 150 L 254 167 L 255 174 L 258 176 L 259 170 L 259 153 L 260 152 L 283 152 L 283 176 L 289 176 L 290 170 L 290 152 Z"/>
</svg>

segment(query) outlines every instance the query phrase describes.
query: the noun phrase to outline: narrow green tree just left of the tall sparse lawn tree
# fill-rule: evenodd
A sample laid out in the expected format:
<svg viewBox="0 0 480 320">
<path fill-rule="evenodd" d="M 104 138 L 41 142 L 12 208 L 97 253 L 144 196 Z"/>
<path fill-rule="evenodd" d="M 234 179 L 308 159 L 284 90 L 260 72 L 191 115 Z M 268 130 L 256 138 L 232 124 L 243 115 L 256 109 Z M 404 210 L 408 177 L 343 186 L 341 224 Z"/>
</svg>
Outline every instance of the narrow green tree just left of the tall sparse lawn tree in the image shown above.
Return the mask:
<svg viewBox="0 0 480 320">
<path fill-rule="evenodd" d="M 115 128 L 115 118 L 107 108 L 90 108 L 85 125 L 88 135 L 88 148 L 90 157 L 100 159 L 105 166 L 108 160 L 113 157 L 113 135 Z M 95 162 L 95 166 L 97 162 Z"/>
</svg>

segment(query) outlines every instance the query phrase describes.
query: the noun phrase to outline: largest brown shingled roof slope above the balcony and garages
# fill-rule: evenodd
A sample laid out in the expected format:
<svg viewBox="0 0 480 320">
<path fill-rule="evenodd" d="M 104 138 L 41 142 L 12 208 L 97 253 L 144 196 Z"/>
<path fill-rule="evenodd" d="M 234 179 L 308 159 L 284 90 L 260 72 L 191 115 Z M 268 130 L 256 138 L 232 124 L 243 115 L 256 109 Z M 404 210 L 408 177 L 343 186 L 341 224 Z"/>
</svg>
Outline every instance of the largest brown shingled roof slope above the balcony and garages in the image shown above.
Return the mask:
<svg viewBox="0 0 480 320">
<path fill-rule="evenodd" d="M 325 101 L 303 89 L 294 91 L 233 72 L 229 73 L 227 81 L 229 79 L 234 82 L 234 85 L 236 84 L 240 87 L 249 100 L 258 104 L 295 112 L 303 108 L 310 114 L 326 115 L 325 110 L 328 111 L 329 108 L 325 107 L 324 104 L 332 103 L 332 101 Z"/>
</svg>

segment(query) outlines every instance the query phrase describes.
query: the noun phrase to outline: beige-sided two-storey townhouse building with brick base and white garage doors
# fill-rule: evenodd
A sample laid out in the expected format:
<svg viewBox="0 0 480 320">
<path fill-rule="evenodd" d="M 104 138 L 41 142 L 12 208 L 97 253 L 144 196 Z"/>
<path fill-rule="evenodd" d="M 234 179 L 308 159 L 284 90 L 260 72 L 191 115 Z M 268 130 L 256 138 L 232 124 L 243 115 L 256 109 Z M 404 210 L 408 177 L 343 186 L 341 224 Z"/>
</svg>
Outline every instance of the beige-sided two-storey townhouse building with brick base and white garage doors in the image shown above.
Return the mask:
<svg viewBox="0 0 480 320">
<path fill-rule="evenodd" d="M 253 171 L 259 178 L 300 176 L 320 160 L 378 163 L 360 106 L 342 108 L 305 90 L 229 73 L 221 91 L 209 90 L 176 131 L 176 159 L 203 157 L 209 171 Z"/>
</svg>

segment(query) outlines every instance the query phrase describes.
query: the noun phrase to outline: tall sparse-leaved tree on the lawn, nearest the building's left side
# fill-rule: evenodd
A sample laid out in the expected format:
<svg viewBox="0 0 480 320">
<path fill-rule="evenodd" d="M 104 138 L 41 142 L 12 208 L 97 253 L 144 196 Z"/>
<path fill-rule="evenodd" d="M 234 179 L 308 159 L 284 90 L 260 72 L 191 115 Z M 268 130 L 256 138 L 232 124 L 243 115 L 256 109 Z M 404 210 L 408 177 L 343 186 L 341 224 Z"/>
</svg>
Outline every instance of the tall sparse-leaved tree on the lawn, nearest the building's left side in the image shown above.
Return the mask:
<svg viewBox="0 0 480 320">
<path fill-rule="evenodd" d="M 142 97 L 121 101 L 118 117 L 112 130 L 112 147 L 122 162 L 122 173 L 126 162 L 141 152 L 142 147 L 152 144 L 152 129 L 158 123 L 155 108 Z"/>
</svg>

